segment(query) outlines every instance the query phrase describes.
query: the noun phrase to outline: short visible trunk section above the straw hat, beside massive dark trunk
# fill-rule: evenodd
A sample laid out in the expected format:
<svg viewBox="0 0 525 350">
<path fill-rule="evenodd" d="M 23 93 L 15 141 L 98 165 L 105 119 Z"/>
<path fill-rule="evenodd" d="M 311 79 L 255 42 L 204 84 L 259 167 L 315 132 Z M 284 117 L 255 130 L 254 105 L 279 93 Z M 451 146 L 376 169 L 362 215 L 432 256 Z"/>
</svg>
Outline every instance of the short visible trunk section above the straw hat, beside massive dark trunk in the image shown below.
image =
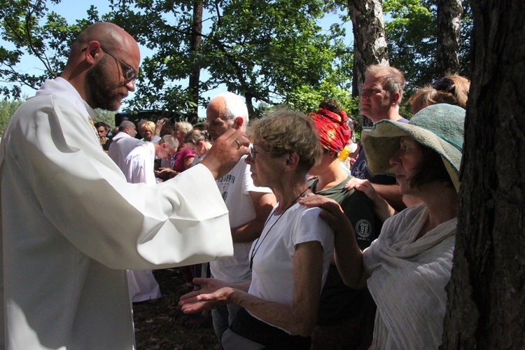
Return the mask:
<svg viewBox="0 0 525 350">
<path fill-rule="evenodd" d="M 437 1 L 437 78 L 459 71 L 461 0 Z"/>
</svg>

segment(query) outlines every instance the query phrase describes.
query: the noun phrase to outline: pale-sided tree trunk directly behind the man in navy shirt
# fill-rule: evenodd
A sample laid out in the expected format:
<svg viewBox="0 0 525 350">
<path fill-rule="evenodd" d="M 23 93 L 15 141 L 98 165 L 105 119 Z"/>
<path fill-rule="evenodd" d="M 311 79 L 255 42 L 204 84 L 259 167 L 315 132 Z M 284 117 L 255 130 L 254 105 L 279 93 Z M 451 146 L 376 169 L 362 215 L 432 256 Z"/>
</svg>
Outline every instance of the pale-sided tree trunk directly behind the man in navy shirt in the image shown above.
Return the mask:
<svg viewBox="0 0 525 350">
<path fill-rule="evenodd" d="M 371 64 L 388 65 L 388 47 L 384 31 L 381 0 L 348 0 L 353 31 L 352 96 L 359 96 L 365 69 Z M 362 116 L 363 125 L 372 121 Z"/>
</svg>

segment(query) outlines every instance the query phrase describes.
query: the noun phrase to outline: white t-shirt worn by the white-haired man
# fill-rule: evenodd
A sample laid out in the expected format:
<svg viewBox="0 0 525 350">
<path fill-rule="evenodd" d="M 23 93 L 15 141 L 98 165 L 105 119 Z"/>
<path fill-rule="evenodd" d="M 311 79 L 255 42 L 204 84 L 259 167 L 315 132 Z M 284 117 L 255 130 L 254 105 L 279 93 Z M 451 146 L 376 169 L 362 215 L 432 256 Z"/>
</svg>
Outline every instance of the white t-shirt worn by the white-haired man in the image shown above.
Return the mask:
<svg viewBox="0 0 525 350">
<path fill-rule="evenodd" d="M 244 162 L 246 155 L 239 160 L 231 172 L 217 180 L 217 186 L 230 216 L 230 228 L 244 225 L 255 218 L 255 209 L 250 192 L 272 193 L 266 187 L 253 185 L 250 165 Z M 251 242 L 234 243 L 232 258 L 210 262 L 211 274 L 216 279 L 227 282 L 242 282 L 251 279 L 248 252 Z"/>
</svg>

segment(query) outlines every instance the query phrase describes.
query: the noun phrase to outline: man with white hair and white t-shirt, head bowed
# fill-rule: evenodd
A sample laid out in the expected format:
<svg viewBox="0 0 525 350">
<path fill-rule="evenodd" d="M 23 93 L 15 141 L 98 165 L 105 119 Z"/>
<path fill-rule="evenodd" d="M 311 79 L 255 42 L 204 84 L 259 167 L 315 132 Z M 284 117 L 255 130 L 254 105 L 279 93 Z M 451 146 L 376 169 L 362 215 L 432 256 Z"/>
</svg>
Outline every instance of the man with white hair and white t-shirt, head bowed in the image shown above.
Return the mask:
<svg viewBox="0 0 525 350">
<path fill-rule="evenodd" d="M 208 132 L 213 141 L 228 130 L 245 130 L 248 109 L 237 94 L 218 94 L 208 104 L 206 119 Z M 248 253 L 253 240 L 260 236 L 270 211 L 276 204 L 269 188 L 253 185 L 250 166 L 244 162 L 246 155 L 225 176 L 217 179 L 217 185 L 230 212 L 230 228 L 233 239 L 233 257 L 210 262 L 211 274 L 227 282 L 243 282 L 251 279 Z M 237 315 L 239 307 L 228 304 L 211 311 L 215 333 L 221 340 Z"/>
</svg>

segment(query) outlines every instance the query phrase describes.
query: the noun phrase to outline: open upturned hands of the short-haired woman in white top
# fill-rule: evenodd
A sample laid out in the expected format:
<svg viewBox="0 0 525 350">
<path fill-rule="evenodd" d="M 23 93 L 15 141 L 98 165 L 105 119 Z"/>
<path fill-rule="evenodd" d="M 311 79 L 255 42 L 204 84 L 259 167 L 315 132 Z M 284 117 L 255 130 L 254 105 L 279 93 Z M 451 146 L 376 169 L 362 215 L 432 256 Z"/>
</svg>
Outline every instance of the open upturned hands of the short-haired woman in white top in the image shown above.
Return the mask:
<svg viewBox="0 0 525 350">
<path fill-rule="evenodd" d="M 194 290 L 181 296 L 179 301 L 185 314 L 193 314 L 228 304 L 232 288 L 228 287 L 225 282 L 218 279 L 193 279 L 193 283 L 200 285 L 200 290 Z"/>
</svg>

